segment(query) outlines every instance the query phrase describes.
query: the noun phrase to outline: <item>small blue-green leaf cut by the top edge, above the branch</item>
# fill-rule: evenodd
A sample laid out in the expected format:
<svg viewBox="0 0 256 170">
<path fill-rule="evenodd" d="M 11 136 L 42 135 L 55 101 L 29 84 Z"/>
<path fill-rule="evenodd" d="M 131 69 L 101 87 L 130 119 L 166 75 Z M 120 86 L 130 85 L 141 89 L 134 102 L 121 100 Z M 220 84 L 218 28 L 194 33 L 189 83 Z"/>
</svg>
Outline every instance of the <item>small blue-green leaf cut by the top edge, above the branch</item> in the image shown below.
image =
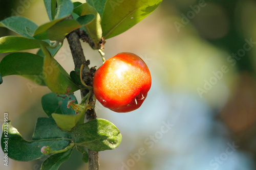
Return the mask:
<svg viewBox="0 0 256 170">
<path fill-rule="evenodd" d="M 65 18 L 73 11 L 73 3 L 70 0 L 56 0 L 58 7 L 56 10 L 56 19 Z"/>
</svg>

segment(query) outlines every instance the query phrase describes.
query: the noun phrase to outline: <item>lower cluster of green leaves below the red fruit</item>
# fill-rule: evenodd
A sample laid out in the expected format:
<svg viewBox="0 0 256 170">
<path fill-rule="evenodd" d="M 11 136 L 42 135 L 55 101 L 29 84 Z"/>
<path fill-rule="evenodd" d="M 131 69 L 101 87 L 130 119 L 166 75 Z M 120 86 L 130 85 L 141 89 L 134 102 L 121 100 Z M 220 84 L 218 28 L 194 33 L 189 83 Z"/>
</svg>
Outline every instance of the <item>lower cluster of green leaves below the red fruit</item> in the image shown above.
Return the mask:
<svg viewBox="0 0 256 170">
<path fill-rule="evenodd" d="M 62 96 L 63 97 L 63 96 Z M 59 151 L 73 144 L 65 152 L 53 154 L 48 157 L 41 169 L 57 169 L 69 159 L 74 147 L 82 153 L 82 161 L 88 162 L 87 150 L 104 151 L 118 147 L 122 136 L 115 125 L 105 119 L 94 119 L 83 123 L 86 108 L 75 110 L 67 108 L 68 101 L 72 100 L 75 106 L 77 100 L 72 94 L 69 98 L 60 98 L 54 93 L 42 96 L 42 108 L 48 117 L 39 117 L 36 122 L 32 141 L 24 139 L 11 122 L 7 122 L 7 133 L 1 138 L 2 148 L 8 138 L 8 156 L 17 161 L 30 161 L 46 155 L 41 153 L 41 148 L 49 146 L 53 151 Z M 51 167 L 51 168 L 49 168 Z"/>
</svg>

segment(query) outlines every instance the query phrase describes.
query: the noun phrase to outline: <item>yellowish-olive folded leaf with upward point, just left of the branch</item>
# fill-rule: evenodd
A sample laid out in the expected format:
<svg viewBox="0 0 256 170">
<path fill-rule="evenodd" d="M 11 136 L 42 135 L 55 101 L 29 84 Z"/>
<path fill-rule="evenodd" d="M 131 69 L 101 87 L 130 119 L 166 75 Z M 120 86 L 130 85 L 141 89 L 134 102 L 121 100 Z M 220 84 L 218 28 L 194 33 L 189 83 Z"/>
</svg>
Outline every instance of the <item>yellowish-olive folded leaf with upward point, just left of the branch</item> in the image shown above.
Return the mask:
<svg viewBox="0 0 256 170">
<path fill-rule="evenodd" d="M 56 94 L 72 93 L 79 87 L 72 81 L 67 71 L 51 56 L 46 47 L 41 46 L 45 54 L 44 68 L 45 83 Z"/>
</svg>

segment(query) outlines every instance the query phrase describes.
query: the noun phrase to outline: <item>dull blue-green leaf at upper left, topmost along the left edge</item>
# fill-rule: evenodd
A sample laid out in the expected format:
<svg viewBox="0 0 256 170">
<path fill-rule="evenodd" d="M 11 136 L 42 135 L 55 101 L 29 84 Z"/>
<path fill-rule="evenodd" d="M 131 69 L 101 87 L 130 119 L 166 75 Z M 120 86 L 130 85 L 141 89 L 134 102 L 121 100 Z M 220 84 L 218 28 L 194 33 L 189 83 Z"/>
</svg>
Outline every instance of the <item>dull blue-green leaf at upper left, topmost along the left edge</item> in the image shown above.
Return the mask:
<svg viewBox="0 0 256 170">
<path fill-rule="evenodd" d="M 23 16 L 11 16 L 1 21 L 0 27 L 6 27 L 19 35 L 32 38 L 31 32 L 34 32 L 38 26 Z M 30 33 L 27 30 L 30 30 Z"/>
</svg>

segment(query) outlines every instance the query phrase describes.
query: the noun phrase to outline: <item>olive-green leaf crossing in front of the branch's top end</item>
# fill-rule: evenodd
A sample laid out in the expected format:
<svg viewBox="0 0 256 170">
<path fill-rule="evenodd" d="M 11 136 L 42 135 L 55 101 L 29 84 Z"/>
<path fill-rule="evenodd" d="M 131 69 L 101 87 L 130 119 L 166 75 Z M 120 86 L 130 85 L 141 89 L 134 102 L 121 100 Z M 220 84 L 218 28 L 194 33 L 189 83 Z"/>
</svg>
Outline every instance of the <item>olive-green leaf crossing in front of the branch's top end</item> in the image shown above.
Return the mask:
<svg viewBox="0 0 256 170">
<path fill-rule="evenodd" d="M 64 19 L 47 30 L 48 38 L 52 41 L 63 40 L 70 32 L 88 25 L 94 19 L 94 15 L 84 15 L 74 19 Z"/>
</svg>

